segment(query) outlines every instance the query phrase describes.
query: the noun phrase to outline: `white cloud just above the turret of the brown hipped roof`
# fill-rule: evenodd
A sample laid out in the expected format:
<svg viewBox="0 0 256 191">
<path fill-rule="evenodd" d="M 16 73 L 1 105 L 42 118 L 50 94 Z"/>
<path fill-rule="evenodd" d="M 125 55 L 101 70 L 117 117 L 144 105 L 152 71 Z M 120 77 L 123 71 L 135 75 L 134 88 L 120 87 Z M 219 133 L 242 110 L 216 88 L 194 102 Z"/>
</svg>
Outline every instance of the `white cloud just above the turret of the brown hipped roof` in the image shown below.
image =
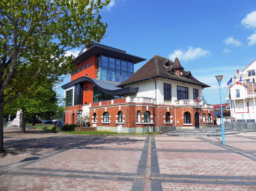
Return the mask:
<svg viewBox="0 0 256 191">
<path fill-rule="evenodd" d="M 175 60 L 176 56 L 178 57 L 179 60 L 194 60 L 198 59 L 200 57 L 206 57 L 209 56 L 210 52 L 209 50 L 203 50 L 202 48 L 193 48 L 192 46 L 188 48 L 188 50 L 183 50 L 183 49 L 177 49 L 174 50 L 173 53 L 169 54 L 168 57 L 171 60 Z"/>
</svg>

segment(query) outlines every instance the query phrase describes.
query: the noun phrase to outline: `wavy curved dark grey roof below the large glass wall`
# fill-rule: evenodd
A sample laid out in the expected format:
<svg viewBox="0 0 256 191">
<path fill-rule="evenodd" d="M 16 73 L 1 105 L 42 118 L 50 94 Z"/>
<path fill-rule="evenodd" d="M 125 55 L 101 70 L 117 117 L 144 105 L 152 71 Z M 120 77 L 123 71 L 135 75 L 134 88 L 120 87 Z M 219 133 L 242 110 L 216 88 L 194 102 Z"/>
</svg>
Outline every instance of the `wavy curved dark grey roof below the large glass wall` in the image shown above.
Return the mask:
<svg viewBox="0 0 256 191">
<path fill-rule="evenodd" d="M 116 87 L 117 85 L 119 85 L 118 82 L 99 80 L 99 79 L 89 78 L 86 76 L 83 76 L 83 77 L 73 80 L 69 83 L 66 83 L 65 85 L 61 86 L 61 88 L 66 89 L 66 88 L 76 85 L 78 83 L 85 83 L 85 82 L 92 82 L 102 92 L 109 94 L 109 95 L 116 95 L 116 96 L 134 94 L 134 93 L 137 93 L 137 91 L 139 89 L 139 88 L 133 88 L 133 87 L 118 88 L 118 87 Z"/>
</svg>

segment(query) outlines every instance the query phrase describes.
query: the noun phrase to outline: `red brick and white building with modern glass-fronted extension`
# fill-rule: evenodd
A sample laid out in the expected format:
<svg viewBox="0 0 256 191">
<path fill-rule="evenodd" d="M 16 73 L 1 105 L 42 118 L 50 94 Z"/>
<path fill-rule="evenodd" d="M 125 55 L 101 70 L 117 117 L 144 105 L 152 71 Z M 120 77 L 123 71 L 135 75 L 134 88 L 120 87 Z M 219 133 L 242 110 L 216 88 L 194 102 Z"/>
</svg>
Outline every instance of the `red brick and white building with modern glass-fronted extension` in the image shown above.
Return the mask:
<svg viewBox="0 0 256 191">
<path fill-rule="evenodd" d="M 199 128 L 213 124 L 213 106 L 197 102 L 208 85 L 174 63 L 155 55 L 133 74 L 133 66 L 146 59 L 97 43 L 84 47 L 75 59 L 77 71 L 65 89 L 65 123 L 89 112 L 98 131 L 142 133 L 147 126 Z"/>
</svg>

